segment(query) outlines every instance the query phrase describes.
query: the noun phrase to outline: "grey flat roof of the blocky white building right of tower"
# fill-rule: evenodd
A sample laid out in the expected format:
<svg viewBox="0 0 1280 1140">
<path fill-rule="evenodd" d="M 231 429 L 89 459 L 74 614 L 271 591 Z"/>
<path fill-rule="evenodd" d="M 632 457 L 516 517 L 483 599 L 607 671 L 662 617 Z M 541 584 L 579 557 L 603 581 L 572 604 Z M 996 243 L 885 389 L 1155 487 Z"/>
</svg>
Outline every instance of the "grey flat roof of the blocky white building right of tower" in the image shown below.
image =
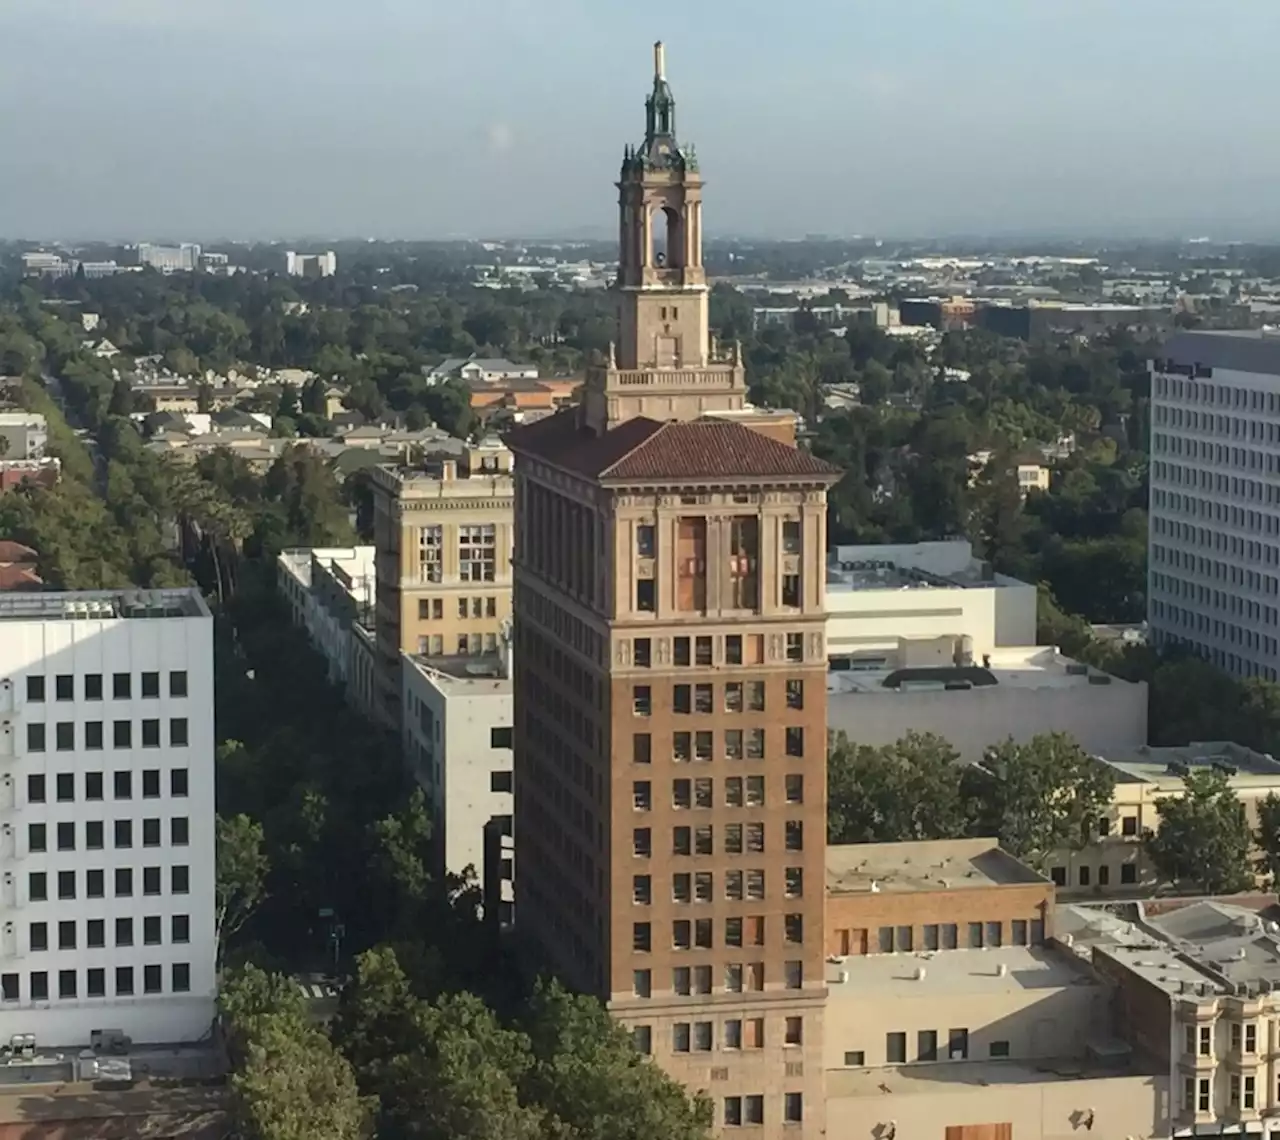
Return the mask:
<svg viewBox="0 0 1280 1140">
<path fill-rule="evenodd" d="M 942 542 L 835 546 L 827 554 L 827 590 L 972 590 L 1021 586 L 973 557 L 964 539 Z"/>
</svg>

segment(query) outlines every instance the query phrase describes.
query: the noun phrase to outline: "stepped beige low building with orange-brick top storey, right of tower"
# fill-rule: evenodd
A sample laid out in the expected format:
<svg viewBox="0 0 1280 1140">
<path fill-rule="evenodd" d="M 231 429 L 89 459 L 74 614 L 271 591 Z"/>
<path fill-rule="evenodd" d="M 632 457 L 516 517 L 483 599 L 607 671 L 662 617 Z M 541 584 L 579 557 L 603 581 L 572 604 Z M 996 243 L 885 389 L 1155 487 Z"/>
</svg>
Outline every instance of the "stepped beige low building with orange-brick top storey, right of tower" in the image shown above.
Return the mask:
<svg viewBox="0 0 1280 1140">
<path fill-rule="evenodd" d="M 993 839 L 827 851 L 832 1140 L 1165 1136 L 1169 1077 Z"/>
</svg>

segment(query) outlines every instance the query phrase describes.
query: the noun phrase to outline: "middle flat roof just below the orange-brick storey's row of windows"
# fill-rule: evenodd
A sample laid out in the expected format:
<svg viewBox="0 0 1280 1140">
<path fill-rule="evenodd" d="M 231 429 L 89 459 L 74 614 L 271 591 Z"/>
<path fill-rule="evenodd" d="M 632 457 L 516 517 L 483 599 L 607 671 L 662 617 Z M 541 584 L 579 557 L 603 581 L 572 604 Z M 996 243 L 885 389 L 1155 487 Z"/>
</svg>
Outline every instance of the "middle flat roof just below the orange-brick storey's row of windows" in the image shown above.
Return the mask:
<svg viewBox="0 0 1280 1140">
<path fill-rule="evenodd" d="M 924 976 L 919 978 L 922 970 Z M 827 963 L 827 990 L 836 1002 L 865 1002 L 869 995 L 980 997 L 1082 985 L 1101 989 L 1103 983 L 1074 954 L 1042 946 L 863 954 Z"/>
</svg>

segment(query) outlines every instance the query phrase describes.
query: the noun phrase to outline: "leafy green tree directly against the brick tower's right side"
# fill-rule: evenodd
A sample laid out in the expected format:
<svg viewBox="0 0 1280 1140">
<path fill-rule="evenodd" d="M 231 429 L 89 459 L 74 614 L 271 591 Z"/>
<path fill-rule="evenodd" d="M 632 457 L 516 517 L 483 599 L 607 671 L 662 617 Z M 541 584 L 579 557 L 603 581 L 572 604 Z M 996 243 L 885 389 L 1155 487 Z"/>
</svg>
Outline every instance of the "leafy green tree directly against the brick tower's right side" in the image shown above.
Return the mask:
<svg viewBox="0 0 1280 1140">
<path fill-rule="evenodd" d="M 827 751 L 827 842 L 896 843 L 965 833 L 960 754 L 932 733 L 874 748 L 832 733 Z"/>
</svg>

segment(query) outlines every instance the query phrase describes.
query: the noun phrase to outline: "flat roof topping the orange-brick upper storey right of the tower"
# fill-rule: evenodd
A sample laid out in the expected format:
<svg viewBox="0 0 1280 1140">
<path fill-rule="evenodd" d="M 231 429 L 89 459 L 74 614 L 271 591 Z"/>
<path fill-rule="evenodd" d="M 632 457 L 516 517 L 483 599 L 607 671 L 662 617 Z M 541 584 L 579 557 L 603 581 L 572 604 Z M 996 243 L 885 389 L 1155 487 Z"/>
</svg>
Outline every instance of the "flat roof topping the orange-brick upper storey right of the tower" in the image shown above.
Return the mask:
<svg viewBox="0 0 1280 1140">
<path fill-rule="evenodd" d="M 842 843 L 827 848 L 827 891 L 832 894 L 963 891 L 1047 882 L 1001 851 L 996 839 Z"/>
</svg>

